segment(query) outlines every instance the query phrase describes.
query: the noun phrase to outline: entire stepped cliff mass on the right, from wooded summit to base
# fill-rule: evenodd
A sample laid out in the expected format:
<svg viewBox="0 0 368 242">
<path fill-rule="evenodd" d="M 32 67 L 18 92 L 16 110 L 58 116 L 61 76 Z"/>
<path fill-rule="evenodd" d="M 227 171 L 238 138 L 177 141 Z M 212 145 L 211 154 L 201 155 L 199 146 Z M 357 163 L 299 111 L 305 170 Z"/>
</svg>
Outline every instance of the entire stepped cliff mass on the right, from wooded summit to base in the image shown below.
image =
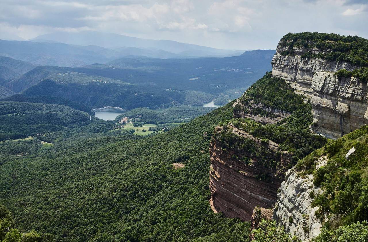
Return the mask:
<svg viewBox="0 0 368 242">
<path fill-rule="evenodd" d="M 255 228 L 255 207 L 274 208 L 273 219 L 302 241 L 316 238 L 326 222 L 335 229 L 368 219 L 367 46 L 356 36 L 283 37 L 272 73 L 234 102 L 233 120 L 216 127 L 215 212 L 251 219 Z"/>
</svg>

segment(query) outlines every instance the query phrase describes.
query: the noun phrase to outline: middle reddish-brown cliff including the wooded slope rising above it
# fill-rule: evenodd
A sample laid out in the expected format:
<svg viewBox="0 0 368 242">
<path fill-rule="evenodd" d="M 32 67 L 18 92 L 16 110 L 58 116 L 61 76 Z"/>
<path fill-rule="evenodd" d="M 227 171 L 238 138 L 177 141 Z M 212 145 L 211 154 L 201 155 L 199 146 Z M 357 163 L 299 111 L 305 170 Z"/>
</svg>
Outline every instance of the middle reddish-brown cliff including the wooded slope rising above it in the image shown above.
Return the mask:
<svg viewBox="0 0 368 242">
<path fill-rule="evenodd" d="M 308 131 L 311 106 L 267 73 L 233 104 L 234 119 L 210 142 L 210 205 L 249 221 L 256 206 L 272 208 L 285 173 L 324 144 Z"/>
</svg>

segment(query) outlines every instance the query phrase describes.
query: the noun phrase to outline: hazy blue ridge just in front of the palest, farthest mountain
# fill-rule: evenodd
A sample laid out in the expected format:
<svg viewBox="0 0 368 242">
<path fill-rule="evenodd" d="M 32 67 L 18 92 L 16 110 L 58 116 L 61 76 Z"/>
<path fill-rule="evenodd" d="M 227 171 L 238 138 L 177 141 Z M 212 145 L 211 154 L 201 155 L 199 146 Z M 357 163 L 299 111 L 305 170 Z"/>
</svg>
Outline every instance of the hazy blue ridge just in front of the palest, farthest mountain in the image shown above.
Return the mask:
<svg viewBox="0 0 368 242">
<path fill-rule="evenodd" d="M 121 57 L 184 57 L 183 55 L 170 53 L 158 48 L 118 47 L 113 50 L 100 46 L 78 46 L 56 41 L 35 42 L 7 40 L 0 40 L 0 55 L 30 62 L 39 66 L 50 65 L 66 67 L 78 67 L 91 65 L 93 63 L 101 64 Z"/>
</svg>

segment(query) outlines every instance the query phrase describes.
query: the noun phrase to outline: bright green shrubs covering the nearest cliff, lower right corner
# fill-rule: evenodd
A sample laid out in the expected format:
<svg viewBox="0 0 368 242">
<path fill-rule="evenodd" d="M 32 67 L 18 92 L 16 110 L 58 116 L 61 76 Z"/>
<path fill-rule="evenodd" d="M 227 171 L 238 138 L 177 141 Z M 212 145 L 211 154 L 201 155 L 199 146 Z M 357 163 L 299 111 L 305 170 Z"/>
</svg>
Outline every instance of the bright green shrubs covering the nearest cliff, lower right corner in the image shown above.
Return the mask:
<svg viewBox="0 0 368 242">
<path fill-rule="evenodd" d="M 298 177 L 312 175 L 314 185 L 322 188 L 319 194 L 309 194 L 314 198 L 311 206 L 318 208 L 315 210 L 317 219 L 325 221 L 314 241 L 368 241 L 367 138 L 368 127 L 364 126 L 335 141 L 328 140 L 324 147 L 299 160 L 295 166 Z M 347 156 L 353 147 L 354 152 Z M 325 159 L 326 164 L 316 169 L 316 160 L 321 159 Z M 291 235 L 284 227 L 277 227 L 275 221 L 262 221 L 260 228 L 253 232 L 257 242 L 298 241 L 296 236 L 290 239 Z"/>
</svg>

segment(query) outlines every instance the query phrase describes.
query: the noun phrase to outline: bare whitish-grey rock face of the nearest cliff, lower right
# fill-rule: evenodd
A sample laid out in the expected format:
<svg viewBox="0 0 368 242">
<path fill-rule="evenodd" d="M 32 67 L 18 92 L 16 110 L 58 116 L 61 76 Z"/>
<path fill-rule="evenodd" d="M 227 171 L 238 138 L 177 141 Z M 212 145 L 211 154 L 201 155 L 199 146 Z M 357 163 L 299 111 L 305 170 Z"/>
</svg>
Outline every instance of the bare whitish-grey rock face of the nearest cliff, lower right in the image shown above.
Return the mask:
<svg viewBox="0 0 368 242">
<path fill-rule="evenodd" d="M 322 156 L 316 161 L 316 169 L 326 163 L 326 156 Z M 300 176 L 294 168 L 288 170 L 277 194 L 273 219 L 301 241 L 311 241 L 321 233 L 327 220 L 327 214 L 320 219 L 315 216 L 319 207 L 311 207 L 314 196 L 321 192 L 314 186 L 312 174 Z"/>
</svg>

